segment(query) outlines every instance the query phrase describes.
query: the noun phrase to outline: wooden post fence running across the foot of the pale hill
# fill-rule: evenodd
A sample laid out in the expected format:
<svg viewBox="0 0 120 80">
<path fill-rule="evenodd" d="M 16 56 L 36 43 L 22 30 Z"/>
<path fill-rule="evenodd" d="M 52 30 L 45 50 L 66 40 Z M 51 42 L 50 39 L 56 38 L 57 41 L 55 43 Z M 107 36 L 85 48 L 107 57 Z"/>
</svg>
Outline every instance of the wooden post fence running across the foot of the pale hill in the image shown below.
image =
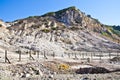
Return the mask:
<svg viewBox="0 0 120 80">
<path fill-rule="evenodd" d="M 48 54 L 47 52 L 29 51 L 27 54 L 21 53 L 21 51 L 16 54 L 11 54 L 7 50 L 4 52 L 4 56 L 1 57 L 0 62 L 5 62 L 11 64 L 11 62 L 21 62 L 21 61 L 31 61 L 39 59 L 48 58 L 66 58 L 66 59 L 76 59 L 76 60 L 110 60 L 114 57 L 120 57 L 119 52 L 65 52 L 61 56 L 57 56 L 55 53 Z"/>
</svg>

